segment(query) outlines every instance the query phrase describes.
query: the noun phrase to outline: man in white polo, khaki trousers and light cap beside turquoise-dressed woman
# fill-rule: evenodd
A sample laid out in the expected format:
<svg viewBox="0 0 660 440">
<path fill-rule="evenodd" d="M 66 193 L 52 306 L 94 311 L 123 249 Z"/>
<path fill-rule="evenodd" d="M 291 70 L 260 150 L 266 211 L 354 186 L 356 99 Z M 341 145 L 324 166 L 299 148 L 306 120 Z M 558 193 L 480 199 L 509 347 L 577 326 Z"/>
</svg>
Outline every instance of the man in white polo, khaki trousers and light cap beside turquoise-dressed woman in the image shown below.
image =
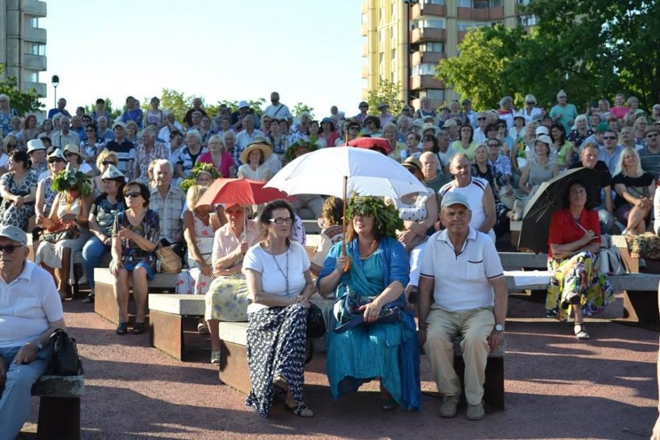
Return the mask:
<svg viewBox="0 0 660 440">
<path fill-rule="evenodd" d="M 480 420 L 486 361 L 489 350 L 497 349 L 503 339 L 508 291 L 493 241 L 469 225 L 472 211 L 467 197 L 448 192 L 440 207 L 440 220 L 447 229 L 430 236 L 422 260 L 419 341 L 443 396 L 440 415 L 451 418 L 461 394 L 452 340 L 463 336 L 466 415 Z"/>
</svg>

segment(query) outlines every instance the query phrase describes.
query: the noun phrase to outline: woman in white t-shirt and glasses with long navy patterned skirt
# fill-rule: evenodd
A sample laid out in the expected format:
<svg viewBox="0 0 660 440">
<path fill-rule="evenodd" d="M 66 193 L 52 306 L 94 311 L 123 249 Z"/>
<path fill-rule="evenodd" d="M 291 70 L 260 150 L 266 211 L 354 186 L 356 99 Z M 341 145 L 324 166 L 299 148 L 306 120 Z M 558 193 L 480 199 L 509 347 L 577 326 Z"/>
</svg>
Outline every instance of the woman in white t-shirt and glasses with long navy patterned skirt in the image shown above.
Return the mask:
<svg viewBox="0 0 660 440">
<path fill-rule="evenodd" d="M 259 223 L 263 241 L 249 248 L 243 261 L 253 300 L 247 331 L 252 391 L 246 405 L 268 417 L 276 387 L 286 392 L 289 411 L 312 417 L 303 403 L 306 320 L 314 293 L 310 259 L 301 244 L 289 239 L 293 223 L 289 203 L 270 202 Z"/>
</svg>

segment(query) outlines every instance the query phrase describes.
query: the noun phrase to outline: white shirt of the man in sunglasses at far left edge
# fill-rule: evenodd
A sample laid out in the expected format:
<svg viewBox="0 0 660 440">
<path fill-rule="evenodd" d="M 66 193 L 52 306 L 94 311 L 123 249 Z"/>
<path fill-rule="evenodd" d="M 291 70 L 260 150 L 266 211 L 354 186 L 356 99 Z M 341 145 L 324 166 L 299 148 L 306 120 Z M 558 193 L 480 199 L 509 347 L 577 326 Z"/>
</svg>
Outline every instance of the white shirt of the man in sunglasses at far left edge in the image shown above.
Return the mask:
<svg viewBox="0 0 660 440">
<path fill-rule="evenodd" d="M 0 348 L 20 347 L 62 318 L 60 295 L 46 270 L 26 261 L 10 284 L 0 276 Z"/>
</svg>

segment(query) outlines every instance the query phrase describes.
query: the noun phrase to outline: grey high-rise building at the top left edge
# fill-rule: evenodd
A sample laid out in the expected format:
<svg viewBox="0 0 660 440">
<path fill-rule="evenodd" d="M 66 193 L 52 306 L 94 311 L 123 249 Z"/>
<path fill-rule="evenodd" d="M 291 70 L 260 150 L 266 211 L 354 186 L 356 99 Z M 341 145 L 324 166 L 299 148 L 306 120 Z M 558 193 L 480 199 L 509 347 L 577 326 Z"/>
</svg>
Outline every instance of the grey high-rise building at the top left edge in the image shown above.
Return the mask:
<svg viewBox="0 0 660 440">
<path fill-rule="evenodd" d="M 0 0 L 0 64 L 4 76 L 15 76 L 20 90 L 34 88 L 46 96 L 46 84 L 39 72 L 46 70 L 46 29 L 39 18 L 46 17 L 46 2 Z"/>
</svg>

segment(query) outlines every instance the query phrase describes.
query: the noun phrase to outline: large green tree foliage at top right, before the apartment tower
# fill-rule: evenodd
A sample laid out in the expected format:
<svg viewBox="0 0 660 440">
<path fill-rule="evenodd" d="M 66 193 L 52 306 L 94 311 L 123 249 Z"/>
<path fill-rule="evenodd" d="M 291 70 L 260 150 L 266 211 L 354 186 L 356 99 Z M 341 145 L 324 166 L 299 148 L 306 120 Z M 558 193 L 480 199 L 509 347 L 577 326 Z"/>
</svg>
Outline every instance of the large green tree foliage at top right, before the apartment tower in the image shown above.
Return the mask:
<svg viewBox="0 0 660 440">
<path fill-rule="evenodd" d="M 659 3 L 532 1 L 524 13 L 538 25 L 470 30 L 460 55 L 440 62 L 438 77 L 477 108 L 497 107 L 504 95 L 520 105 L 527 93 L 547 107 L 563 89 L 579 109 L 620 92 L 649 109 L 660 102 Z"/>
</svg>

